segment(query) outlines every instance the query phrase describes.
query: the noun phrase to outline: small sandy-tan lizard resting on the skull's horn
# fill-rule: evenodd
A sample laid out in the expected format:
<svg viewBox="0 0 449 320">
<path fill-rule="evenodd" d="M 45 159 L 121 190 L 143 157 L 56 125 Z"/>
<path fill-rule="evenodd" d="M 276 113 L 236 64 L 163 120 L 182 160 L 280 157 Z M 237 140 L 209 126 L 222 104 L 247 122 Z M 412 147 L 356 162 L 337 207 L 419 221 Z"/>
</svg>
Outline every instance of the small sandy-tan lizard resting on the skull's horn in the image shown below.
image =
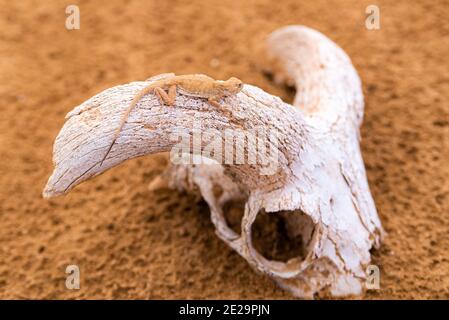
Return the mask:
<svg viewBox="0 0 449 320">
<path fill-rule="evenodd" d="M 226 81 L 215 80 L 203 74 L 181 75 L 176 76 L 173 73 L 161 75 L 162 78 L 153 77 L 148 80 L 155 80 L 149 86 L 143 88 L 131 101 L 126 109 L 117 130 L 114 133 L 112 143 L 108 148 L 105 156 L 101 160 L 100 167 L 108 156 L 115 141 L 125 125 L 129 114 L 137 105 L 137 103 L 148 93 L 154 92 L 162 104 L 173 105 L 176 99 L 176 93 L 180 92 L 186 96 L 207 98 L 207 101 L 214 107 L 221 107 L 218 100 L 235 95 L 243 88 L 243 82 L 237 78 L 231 77 Z M 168 90 L 168 93 L 165 91 Z"/>
</svg>

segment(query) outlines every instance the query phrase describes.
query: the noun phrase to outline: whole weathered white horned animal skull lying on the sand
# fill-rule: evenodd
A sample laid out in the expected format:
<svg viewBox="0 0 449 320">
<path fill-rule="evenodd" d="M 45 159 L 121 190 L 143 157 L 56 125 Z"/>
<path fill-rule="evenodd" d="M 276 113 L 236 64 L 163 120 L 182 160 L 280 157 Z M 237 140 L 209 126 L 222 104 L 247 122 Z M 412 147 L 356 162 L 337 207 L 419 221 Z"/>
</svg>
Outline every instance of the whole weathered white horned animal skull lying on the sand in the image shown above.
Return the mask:
<svg viewBox="0 0 449 320">
<path fill-rule="evenodd" d="M 63 194 L 127 159 L 171 151 L 179 136 L 263 128 L 276 133 L 277 139 L 266 142 L 276 155 L 274 174 L 263 173 L 273 162 L 203 161 L 217 158 L 207 154 L 207 141 L 200 141 L 191 153 L 202 162 L 172 164 L 166 176 L 173 187 L 199 192 L 210 206 L 217 235 L 295 296 L 363 293 L 370 249 L 379 245 L 383 230 L 359 148 L 364 108 L 359 77 L 337 45 L 306 27 L 274 32 L 267 48 L 276 60 L 275 78 L 296 86 L 295 106 L 251 85 L 221 101 L 221 109 L 181 94 L 175 105 L 167 107 L 148 94 L 100 167 L 126 106 L 149 82 L 107 89 L 67 115 L 54 145 L 55 169 L 44 196 Z M 248 158 L 267 160 L 266 152 L 248 145 L 238 144 L 236 149 Z M 231 200 L 245 202 L 241 234 L 228 226 L 224 216 L 224 206 Z M 302 237 L 304 256 L 273 261 L 254 248 L 251 227 L 262 211 L 285 218 L 289 235 Z"/>
</svg>

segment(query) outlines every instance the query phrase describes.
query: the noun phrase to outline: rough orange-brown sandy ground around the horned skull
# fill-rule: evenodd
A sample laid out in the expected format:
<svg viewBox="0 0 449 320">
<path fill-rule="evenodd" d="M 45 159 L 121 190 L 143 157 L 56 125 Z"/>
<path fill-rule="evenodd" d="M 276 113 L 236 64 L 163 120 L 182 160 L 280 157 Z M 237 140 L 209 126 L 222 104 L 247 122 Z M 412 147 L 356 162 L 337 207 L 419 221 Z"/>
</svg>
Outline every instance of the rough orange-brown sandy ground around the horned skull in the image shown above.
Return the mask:
<svg viewBox="0 0 449 320">
<path fill-rule="evenodd" d="M 69 4 L 80 30 L 65 29 Z M 377 31 L 364 25 L 369 4 L 2 0 L 0 298 L 290 298 L 215 236 L 203 202 L 148 191 L 165 155 L 41 198 L 65 114 L 108 87 L 206 73 L 292 101 L 254 54 L 287 24 L 336 41 L 363 81 L 363 156 L 388 232 L 373 252 L 381 289 L 365 297 L 449 298 L 449 2 L 375 1 Z M 69 264 L 80 290 L 65 288 Z"/>
</svg>

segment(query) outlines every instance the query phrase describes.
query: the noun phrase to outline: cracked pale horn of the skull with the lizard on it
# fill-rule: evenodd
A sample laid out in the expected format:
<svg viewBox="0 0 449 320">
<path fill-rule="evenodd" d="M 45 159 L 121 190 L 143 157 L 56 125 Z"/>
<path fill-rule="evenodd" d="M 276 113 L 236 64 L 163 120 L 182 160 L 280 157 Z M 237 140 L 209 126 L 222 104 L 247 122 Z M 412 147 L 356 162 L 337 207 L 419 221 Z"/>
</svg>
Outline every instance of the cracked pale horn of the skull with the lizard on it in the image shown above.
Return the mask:
<svg viewBox="0 0 449 320">
<path fill-rule="evenodd" d="M 265 176 L 263 185 L 272 189 L 287 178 L 288 163 L 297 157 L 300 143 L 290 140 L 306 135 L 301 111 L 250 85 L 224 99 L 221 108 L 208 104 L 205 99 L 186 95 L 178 95 L 173 106 L 161 105 L 153 94 L 144 96 L 102 163 L 124 109 L 148 85 L 149 82 L 133 82 L 104 90 L 66 116 L 54 144 L 55 169 L 45 187 L 45 197 L 66 193 L 125 160 L 174 152 L 174 148 L 225 164 L 229 174 L 248 188 L 261 186 L 260 174 Z M 289 126 L 279 123 L 282 119 L 289 119 Z M 243 138 L 245 143 L 236 144 L 238 138 Z M 259 146 L 263 143 L 263 148 L 257 145 L 251 148 L 248 145 L 251 139 L 256 139 Z M 292 142 L 297 145 L 295 148 Z M 224 149 L 221 153 L 220 147 Z M 294 152 L 289 153 L 292 149 Z M 242 164 L 232 165 L 236 160 L 228 159 L 227 151 L 243 155 Z M 264 169 L 267 166 L 274 171 Z"/>
</svg>

